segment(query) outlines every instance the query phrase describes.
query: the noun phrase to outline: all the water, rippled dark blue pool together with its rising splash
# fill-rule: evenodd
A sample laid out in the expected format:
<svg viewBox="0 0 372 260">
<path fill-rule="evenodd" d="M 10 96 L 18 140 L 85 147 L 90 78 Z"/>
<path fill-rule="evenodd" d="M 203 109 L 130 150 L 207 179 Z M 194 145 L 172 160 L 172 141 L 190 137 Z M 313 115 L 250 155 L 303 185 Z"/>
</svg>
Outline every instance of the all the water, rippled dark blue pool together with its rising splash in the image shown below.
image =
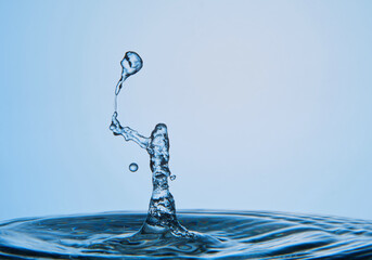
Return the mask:
<svg viewBox="0 0 372 260">
<path fill-rule="evenodd" d="M 128 52 L 121 66 L 115 100 L 126 78 L 142 67 L 142 60 Z M 1 222 L 0 259 L 372 259 L 371 221 L 265 211 L 176 216 L 168 184 L 168 178 L 176 176 L 168 166 L 166 125 L 156 125 L 145 138 L 121 127 L 117 116 L 115 106 L 113 133 L 136 142 L 150 155 L 153 193 L 147 213 Z"/>
</svg>

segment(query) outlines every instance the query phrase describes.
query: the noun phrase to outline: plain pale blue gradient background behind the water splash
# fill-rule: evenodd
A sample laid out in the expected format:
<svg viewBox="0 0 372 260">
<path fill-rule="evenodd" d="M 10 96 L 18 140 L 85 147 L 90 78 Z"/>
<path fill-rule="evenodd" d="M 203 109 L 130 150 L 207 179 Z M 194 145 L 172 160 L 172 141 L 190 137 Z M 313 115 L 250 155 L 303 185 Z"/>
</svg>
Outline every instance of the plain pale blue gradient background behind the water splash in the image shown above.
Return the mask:
<svg viewBox="0 0 372 260">
<path fill-rule="evenodd" d="M 177 208 L 372 219 L 371 1 L 0 2 L 0 219 L 146 210 L 166 122 Z M 139 171 L 128 170 L 130 162 Z"/>
</svg>

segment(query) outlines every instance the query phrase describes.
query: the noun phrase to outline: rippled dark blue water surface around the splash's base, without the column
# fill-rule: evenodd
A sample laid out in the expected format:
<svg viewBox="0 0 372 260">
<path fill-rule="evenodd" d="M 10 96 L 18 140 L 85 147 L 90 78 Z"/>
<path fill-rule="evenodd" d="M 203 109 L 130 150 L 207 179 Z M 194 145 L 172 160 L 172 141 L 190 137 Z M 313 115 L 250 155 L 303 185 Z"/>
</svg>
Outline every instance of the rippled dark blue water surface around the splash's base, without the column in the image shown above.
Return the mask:
<svg viewBox="0 0 372 260">
<path fill-rule="evenodd" d="M 3 222 L 0 258 L 372 259 L 371 221 L 269 211 L 181 212 L 180 223 L 201 234 L 184 238 L 136 233 L 145 218 L 110 212 Z"/>
</svg>

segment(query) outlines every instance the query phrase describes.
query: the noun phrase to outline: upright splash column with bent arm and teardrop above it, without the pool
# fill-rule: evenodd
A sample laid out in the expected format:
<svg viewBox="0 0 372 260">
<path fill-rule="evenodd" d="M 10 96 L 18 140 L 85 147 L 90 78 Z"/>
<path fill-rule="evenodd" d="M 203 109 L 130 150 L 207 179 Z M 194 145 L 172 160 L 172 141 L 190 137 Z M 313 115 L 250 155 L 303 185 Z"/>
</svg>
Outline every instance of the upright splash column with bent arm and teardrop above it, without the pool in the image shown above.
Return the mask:
<svg viewBox="0 0 372 260">
<path fill-rule="evenodd" d="M 123 82 L 130 75 L 142 68 L 142 58 L 136 52 L 127 52 L 121 61 L 121 78 L 116 86 L 117 98 Z M 115 107 L 117 108 L 117 107 Z M 133 141 L 150 155 L 150 169 L 152 171 L 153 193 L 150 199 L 147 218 L 139 231 L 140 234 L 167 234 L 177 237 L 195 237 L 177 220 L 176 205 L 169 192 L 168 178 L 175 180 L 176 176 L 169 170 L 169 139 L 165 123 L 157 123 L 149 138 L 138 133 L 129 127 L 121 127 L 115 109 L 110 129 L 115 135 L 124 136 L 125 141 Z"/>
</svg>

